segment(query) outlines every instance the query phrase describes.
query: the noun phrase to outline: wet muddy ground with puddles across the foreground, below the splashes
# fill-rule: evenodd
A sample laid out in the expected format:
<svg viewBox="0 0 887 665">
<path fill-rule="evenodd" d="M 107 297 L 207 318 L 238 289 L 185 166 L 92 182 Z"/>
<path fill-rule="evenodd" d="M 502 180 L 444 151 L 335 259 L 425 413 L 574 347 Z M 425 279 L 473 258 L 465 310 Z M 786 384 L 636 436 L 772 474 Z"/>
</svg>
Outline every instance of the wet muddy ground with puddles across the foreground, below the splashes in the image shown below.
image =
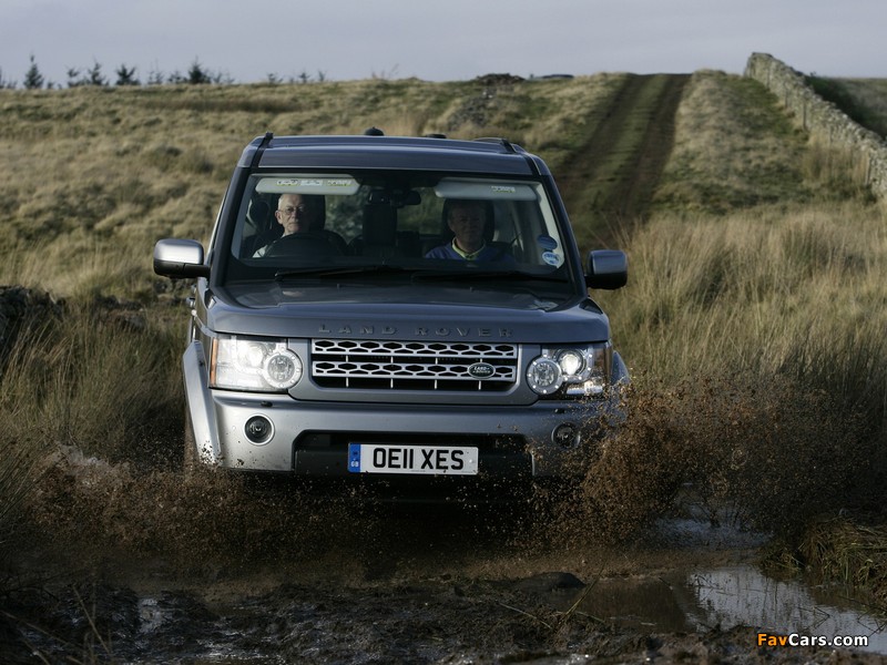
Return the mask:
<svg viewBox="0 0 887 665">
<path fill-rule="evenodd" d="M 339 543 L 328 565 L 278 560 L 188 577 L 153 562 L 21 596 L 11 608 L 21 659 L 9 662 L 754 662 L 758 632 L 868 638 L 855 654 L 783 647 L 771 662 L 887 654 L 881 625 L 840 590 L 762 573 L 751 561 L 761 534 L 667 519 L 625 548 L 547 551 L 452 524 L 429 541 L 416 519 L 385 542 L 370 530 L 371 545 Z"/>
</svg>

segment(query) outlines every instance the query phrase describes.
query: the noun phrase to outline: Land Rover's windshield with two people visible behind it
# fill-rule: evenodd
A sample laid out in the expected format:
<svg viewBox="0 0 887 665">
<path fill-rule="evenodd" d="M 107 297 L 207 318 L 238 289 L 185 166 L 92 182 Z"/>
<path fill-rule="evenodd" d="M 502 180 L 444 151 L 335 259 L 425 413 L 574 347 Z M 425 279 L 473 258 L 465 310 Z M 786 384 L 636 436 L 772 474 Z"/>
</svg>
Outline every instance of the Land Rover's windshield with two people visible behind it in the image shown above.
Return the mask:
<svg viewBox="0 0 887 665">
<path fill-rule="evenodd" d="M 225 282 L 361 275 L 571 290 L 541 183 L 427 173 L 253 175 Z"/>
</svg>

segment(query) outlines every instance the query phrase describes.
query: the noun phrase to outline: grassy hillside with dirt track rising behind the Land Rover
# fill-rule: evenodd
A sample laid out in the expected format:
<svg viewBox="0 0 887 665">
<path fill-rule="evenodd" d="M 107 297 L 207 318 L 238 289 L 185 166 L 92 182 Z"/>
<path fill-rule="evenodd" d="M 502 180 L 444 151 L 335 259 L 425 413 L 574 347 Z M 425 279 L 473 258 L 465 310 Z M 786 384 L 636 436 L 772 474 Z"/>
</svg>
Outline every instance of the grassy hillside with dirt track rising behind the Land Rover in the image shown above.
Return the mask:
<svg viewBox="0 0 887 665">
<path fill-rule="evenodd" d="M 758 84 L 718 72 L 0 91 L 0 282 L 151 297 L 150 247 L 208 234 L 253 136 L 504 135 L 546 158 L 584 248 L 655 209 L 839 198 Z"/>
</svg>

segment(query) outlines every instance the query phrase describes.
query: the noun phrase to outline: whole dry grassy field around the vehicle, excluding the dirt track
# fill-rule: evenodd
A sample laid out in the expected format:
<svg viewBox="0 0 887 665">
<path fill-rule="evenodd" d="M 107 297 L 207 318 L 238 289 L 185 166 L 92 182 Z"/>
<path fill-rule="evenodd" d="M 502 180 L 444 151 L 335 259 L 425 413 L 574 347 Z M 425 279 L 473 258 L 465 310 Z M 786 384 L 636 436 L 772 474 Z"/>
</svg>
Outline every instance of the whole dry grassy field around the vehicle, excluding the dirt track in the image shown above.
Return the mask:
<svg viewBox="0 0 887 665">
<path fill-rule="evenodd" d="M 59 447 L 173 463 L 157 458 L 180 449 L 184 310 L 151 252 L 162 237 L 207 237 L 254 136 L 371 125 L 504 135 L 558 177 L 624 80 L 0 91 L 0 283 L 65 300 L 4 349 L 4 505 L 29 495 L 29 473 Z M 701 492 L 745 502 L 768 528 L 884 500 L 873 462 L 885 459 L 887 213 L 853 163 L 812 144 L 758 84 L 695 73 L 650 207 L 616 234 L 629 286 L 600 294 L 649 407 L 638 431 L 655 436 L 640 453 L 727 460 L 695 470 Z M 591 212 L 571 212 L 578 234 Z M 756 454 L 769 466 L 756 468 Z M 762 501 L 751 487 L 771 492 Z M 764 519 L 781 505 L 797 512 Z M 12 539 L 13 518 L 0 512 L 0 539 Z"/>
</svg>

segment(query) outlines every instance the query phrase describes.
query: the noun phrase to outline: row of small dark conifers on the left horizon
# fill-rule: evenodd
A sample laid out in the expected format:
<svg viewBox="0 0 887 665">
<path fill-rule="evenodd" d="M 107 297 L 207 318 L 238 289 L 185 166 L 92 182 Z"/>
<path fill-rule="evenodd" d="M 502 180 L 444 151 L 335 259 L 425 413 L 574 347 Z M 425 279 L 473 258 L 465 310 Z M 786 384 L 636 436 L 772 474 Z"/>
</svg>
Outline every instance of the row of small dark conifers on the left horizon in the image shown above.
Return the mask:
<svg viewBox="0 0 887 665">
<path fill-rule="evenodd" d="M 174 71 L 172 73 L 164 73 L 160 70 L 152 70 L 149 72 L 147 78 L 144 82 L 139 78 L 137 70 L 134 66 L 128 66 L 125 63 L 121 64 L 116 70 L 114 70 L 115 78 L 109 78 L 102 71 L 102 65 L 99 62 L 93 62 L 92 66 L 90 68 L 69 68 L 67 71 L 68 81 L 64 85 L 48 80 L 43 73 L 40 71 L 40 66 L 37 63 L 37 60 L 33 55 L 30 57 L 30 65 L 28 66 L 28 71 L 24 73 L 24 79 L 21 82 L 21 86 L 26 90 L 41 90 L 41 89 L 61 89 L 61 88 L 78 88 L 81 85 L 95 85 L 95 86 L 109 86 L 109 85 L 163 85 L 163 84 L 191 84 L 191 85 L 206 85 L 211 83 L 215 84 L 232 84 L 235 83 L 234 79 L 222 71 L 212 71 L 201 64 L 200 60 L 194 60 L 191 63 L 191 66 L 184 73 L 180 71 Z M 267 74 L 266 76 L 267 83 L 278 84 L 278 83 L 309 83 L 312 81 L 326 81 L 326 74 L 322 71 L 318 71 L 316 76 L 308 74 L 306 71 L 302 71 L 297 76 L 290 76 L 289 79 L 284 79 L 275 73 Z M 113 81 L 113 82 L 112 82 Z M 14 89 L 18 88 L 19 84 L 17 81 L 8 80 L 3 76 L 3 71 L 0 69 L 0 89 Z"/>
</svg>

